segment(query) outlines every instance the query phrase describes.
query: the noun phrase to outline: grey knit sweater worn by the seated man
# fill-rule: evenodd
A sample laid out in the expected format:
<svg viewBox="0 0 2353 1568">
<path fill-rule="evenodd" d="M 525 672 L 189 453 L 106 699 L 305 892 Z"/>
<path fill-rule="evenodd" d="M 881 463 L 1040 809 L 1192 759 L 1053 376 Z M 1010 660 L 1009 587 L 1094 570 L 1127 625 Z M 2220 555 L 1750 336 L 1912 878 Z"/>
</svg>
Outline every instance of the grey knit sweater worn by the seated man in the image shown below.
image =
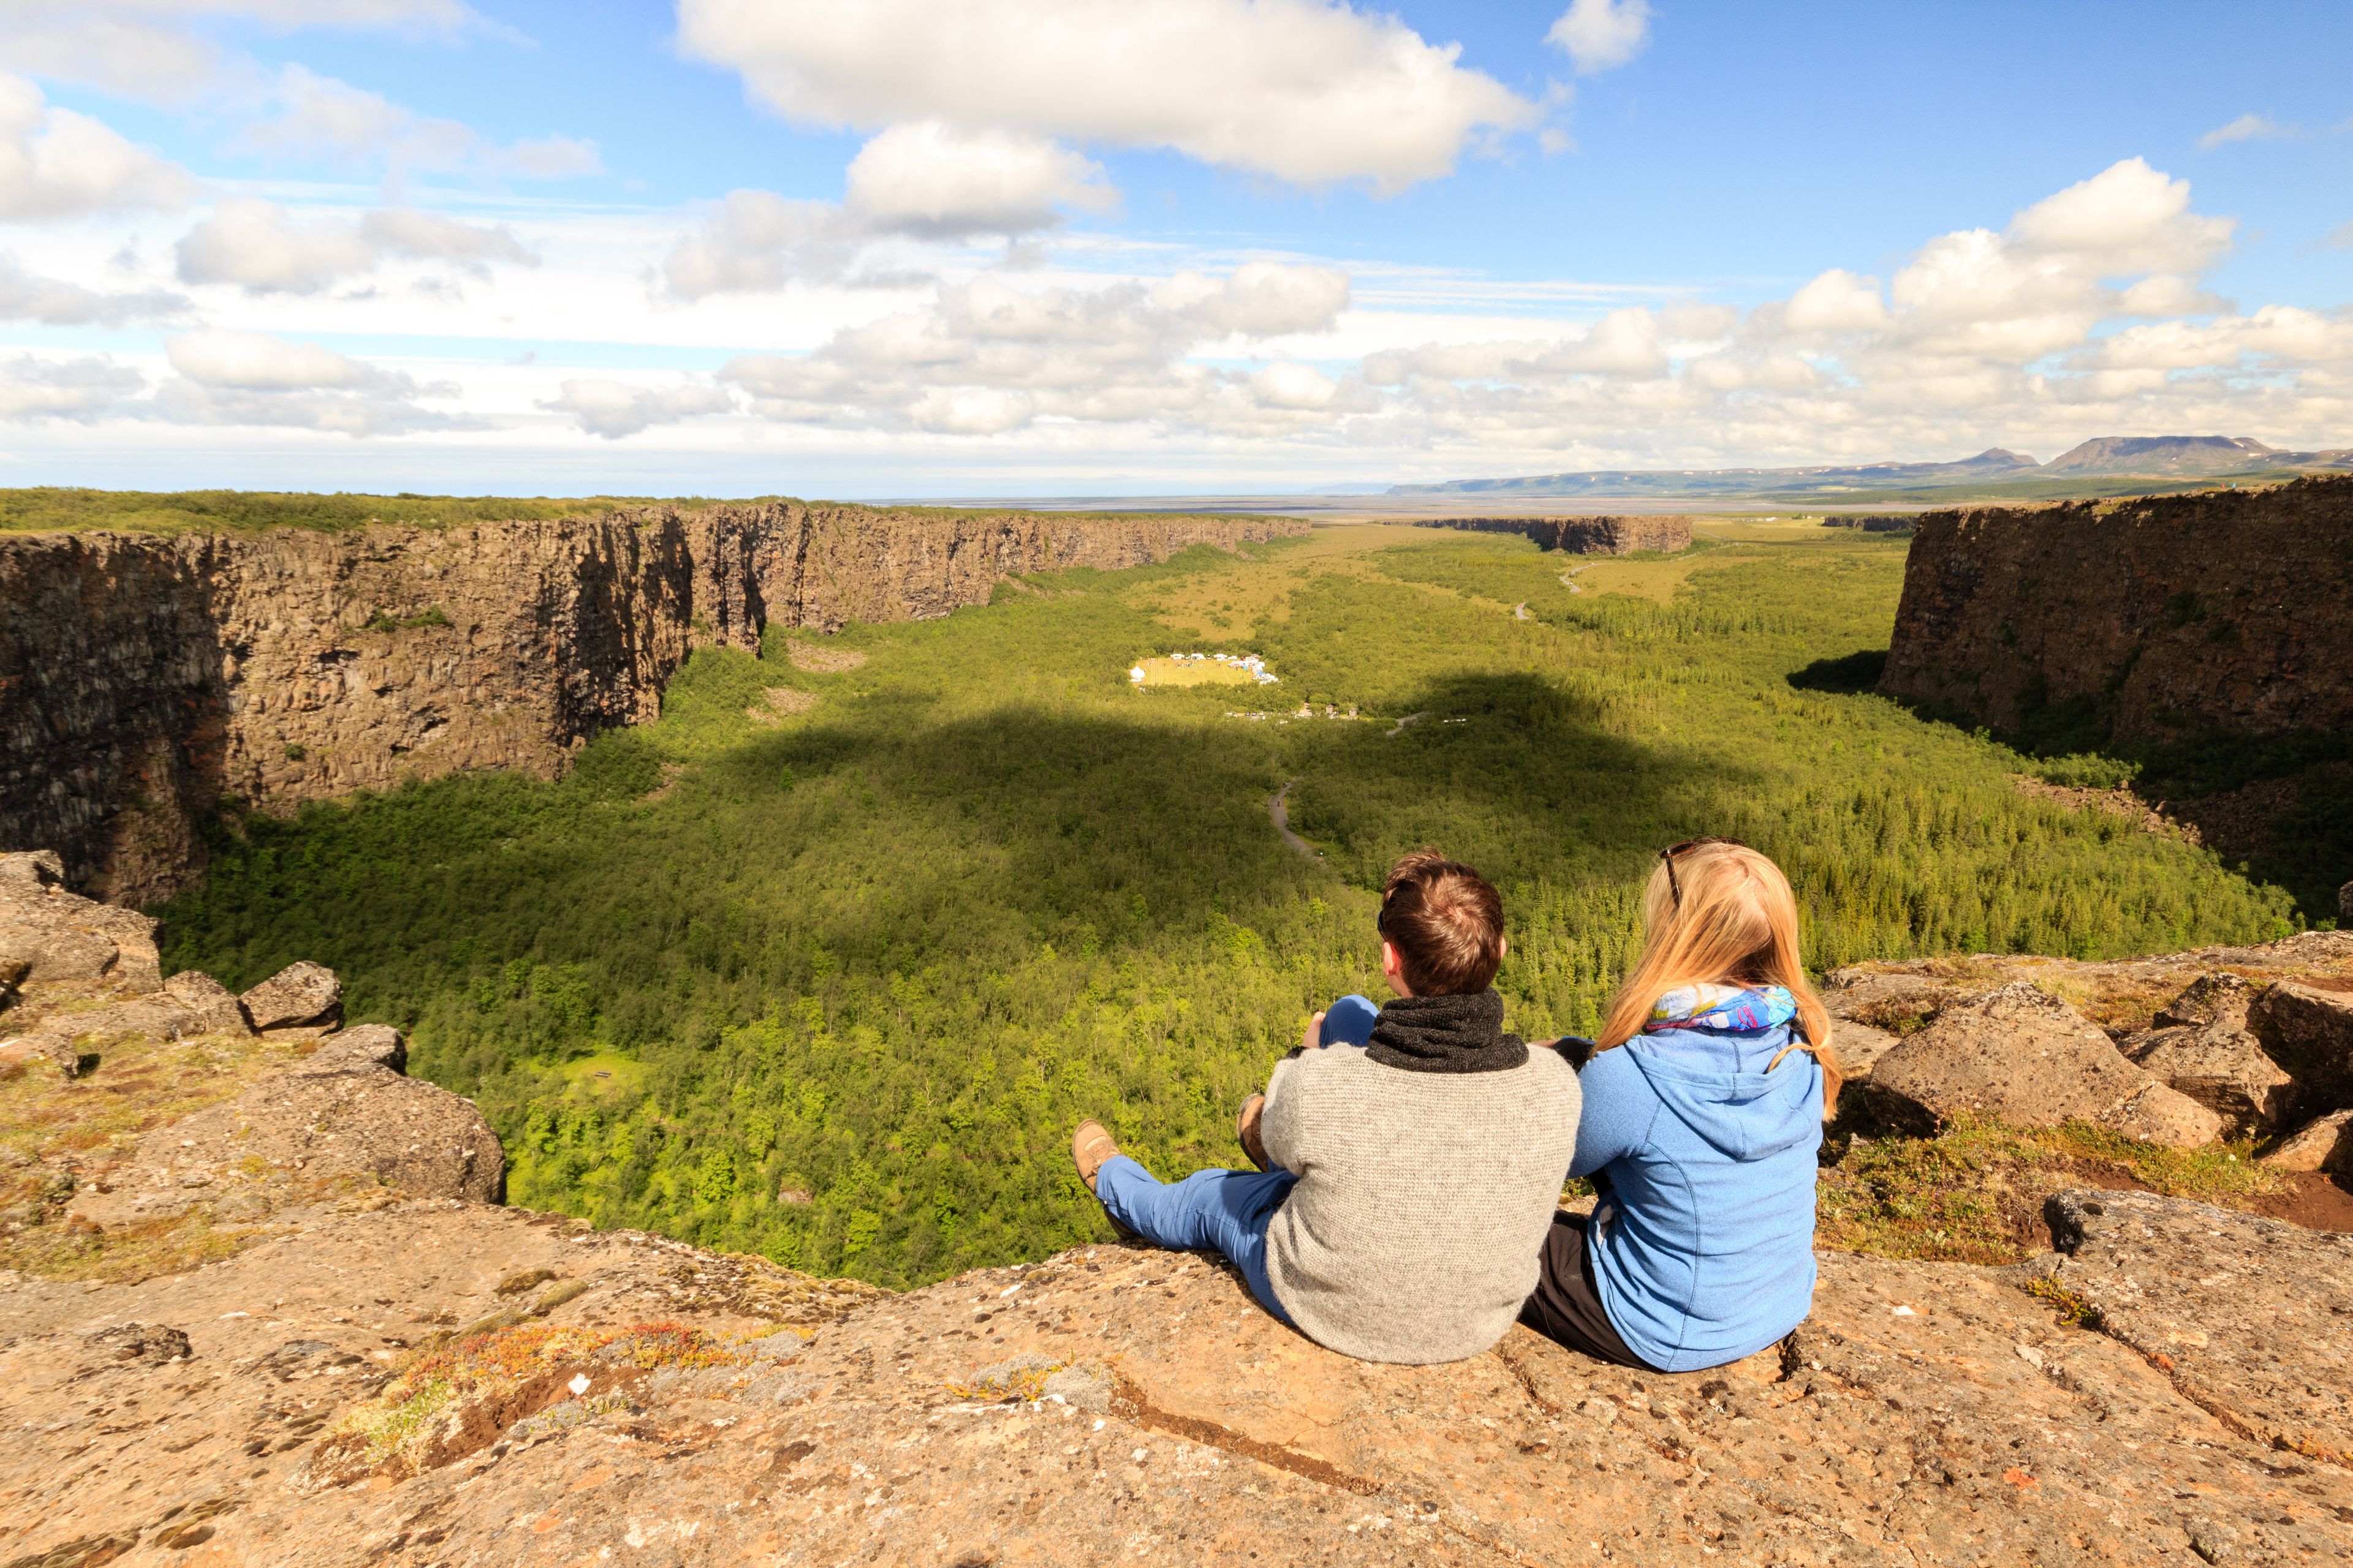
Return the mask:
<svg viewBox="0 0 2353 1568">
<path fill-rule="evenodd" d="M 1537 1286 L 1577 1112 L 1577 1072 L 1546 1048 L 1506 1072 L 1402 1072 L 1355 1046 L 1280 1063 L 1261 1133 L 1299 1185 L 1266 1227 L 1275 1298 L 1362 1361 L 1487 1349 Z"/>
</svg>

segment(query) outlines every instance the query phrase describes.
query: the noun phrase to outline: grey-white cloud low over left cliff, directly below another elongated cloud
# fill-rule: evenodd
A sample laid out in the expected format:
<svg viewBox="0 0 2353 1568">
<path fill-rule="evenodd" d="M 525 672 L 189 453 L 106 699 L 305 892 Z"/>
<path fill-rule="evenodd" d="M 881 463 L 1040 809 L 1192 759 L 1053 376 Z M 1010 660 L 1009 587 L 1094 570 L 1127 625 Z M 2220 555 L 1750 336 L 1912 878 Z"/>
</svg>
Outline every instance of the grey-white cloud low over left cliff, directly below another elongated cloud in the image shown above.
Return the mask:
<svg viewBox="0 0 2353 1568">
<path fill-rule="evenodd" d="M 419 386 L 320 343 L 266 331 L 205 329 L 165 343 L 176 378 L 155 390 L 153 414 L 184 425 L 280 425 L 329 435 L 473 430 L 482 421 L 426 409 L 456 386 Z"/>
</svg>

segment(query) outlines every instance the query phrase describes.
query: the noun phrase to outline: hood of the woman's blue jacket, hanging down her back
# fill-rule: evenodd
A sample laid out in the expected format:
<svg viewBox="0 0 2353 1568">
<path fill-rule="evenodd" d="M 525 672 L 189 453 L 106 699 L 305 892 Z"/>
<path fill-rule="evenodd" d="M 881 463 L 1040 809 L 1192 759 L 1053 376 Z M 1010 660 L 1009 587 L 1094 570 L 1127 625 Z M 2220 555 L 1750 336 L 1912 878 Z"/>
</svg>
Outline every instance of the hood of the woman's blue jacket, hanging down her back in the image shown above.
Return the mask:
<svg viewBox="0 0 2353 1568">
<path fill-rule="evenodd" d="M 1727 1159 L 1781 1154 L 1821 1135 L 1814 1086 L 1821 1067 L 1805 1051 L 1765 1065 L 1791 1044 L 1788 1025 L 1769 1030 L 1659 1030 L 1619 1051 L 1675 1117 Z"/>
</svg>

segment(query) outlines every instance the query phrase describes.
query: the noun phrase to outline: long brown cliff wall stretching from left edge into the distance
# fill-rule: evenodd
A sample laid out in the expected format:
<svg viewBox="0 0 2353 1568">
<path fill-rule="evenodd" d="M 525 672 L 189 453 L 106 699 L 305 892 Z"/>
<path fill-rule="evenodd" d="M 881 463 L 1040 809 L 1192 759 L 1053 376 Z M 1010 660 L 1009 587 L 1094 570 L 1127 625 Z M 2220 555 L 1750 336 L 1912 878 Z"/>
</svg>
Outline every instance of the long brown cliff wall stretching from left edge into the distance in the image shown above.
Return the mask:
<svg viewBox="0 0 2353 1568">
<path fill-rule="evenodd" d="M 268 809 L 459 769 L 553 778 L 652 719 L 699 646 L 767 623 L 944 616 L 998 578 L 1134 567 L 1282 517 L 642 508 L 327 534 L 0 536 L 0 844 L 151 903 L 224 799 Z"/>
</svg>

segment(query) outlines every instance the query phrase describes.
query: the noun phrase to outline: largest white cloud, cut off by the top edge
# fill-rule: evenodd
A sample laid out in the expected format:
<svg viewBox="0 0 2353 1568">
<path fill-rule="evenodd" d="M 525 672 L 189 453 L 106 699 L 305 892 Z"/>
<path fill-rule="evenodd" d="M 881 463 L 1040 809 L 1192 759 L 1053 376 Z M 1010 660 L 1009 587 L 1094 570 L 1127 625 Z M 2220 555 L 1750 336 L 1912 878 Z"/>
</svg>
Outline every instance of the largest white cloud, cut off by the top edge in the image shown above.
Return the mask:
<svg viewBox="0 0 2353 1568">
<path fill-rule="evenodd" d="M 1395 16 L 1327 0 L 680 0 L 680 47 L 776 113 L 1174 148 L 1393 193 L 1539 106 Z"/>
</svg>

